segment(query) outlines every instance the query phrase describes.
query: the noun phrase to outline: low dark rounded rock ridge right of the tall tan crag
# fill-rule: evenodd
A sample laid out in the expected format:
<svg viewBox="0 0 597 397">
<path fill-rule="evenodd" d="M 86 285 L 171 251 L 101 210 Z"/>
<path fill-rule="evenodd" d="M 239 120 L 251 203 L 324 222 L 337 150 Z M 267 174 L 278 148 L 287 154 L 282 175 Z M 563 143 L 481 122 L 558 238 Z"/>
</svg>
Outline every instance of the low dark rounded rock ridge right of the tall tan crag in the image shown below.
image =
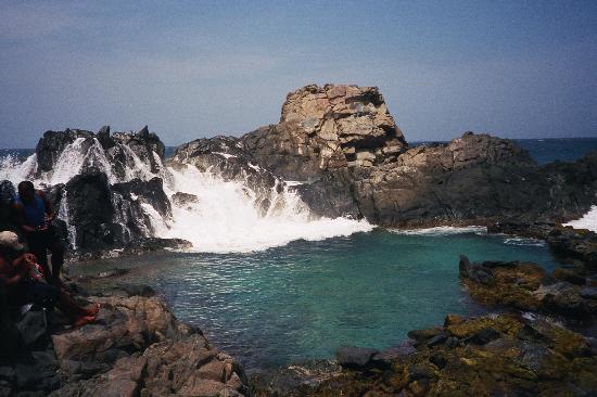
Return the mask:
<svg viewBox="0 0 597 397">
<path fill-rule="evenodd" d="M 511 141 L 467 132 L 414 148 L 395 165 L 359 170 L 354 181 L 361 213 L 381 225 L 563 221 L 594 203 L 596 169 L 596 154 L 539 167 Z"/>
</svg>

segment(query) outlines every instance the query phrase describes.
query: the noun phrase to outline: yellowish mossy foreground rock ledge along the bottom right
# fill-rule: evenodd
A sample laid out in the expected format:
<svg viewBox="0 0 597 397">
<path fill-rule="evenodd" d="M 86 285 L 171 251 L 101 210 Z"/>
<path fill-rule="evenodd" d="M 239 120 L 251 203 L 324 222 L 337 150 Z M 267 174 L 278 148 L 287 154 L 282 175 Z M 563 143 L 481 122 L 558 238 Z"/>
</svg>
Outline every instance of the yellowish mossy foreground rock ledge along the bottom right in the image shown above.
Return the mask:
<svg viewBox="0 0 597 397">
<path fill-rule="evenodd" d="M 382 351 L 360 368 L 285 389 L 284 396 L 590 396 L 597 390 L 597 351 L 589 341 L 542 318 L 447 316 L 443 326 L 409 336 L 409 349 Z M 256 395 L 276 396 L 278 389 L 270 384 Z"/>
</svg>

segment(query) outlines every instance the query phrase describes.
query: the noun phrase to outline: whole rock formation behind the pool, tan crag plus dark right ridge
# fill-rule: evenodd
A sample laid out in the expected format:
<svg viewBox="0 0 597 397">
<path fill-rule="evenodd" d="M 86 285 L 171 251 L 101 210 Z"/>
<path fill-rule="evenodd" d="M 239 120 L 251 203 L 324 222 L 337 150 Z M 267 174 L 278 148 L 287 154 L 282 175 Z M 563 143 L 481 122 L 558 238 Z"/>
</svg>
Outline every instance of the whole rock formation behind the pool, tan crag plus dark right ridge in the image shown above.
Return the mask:
<svg viewBox="0 0 597 397">
<path fill-rule="evenodd" d="M 302 181 L 293 189 L 314 214 L 383 226 L 562 221 L 584 214 L 597 193 L 597 154 L 539 167 L 512 141 L 473 132 L 408 149 L 371 87 L 304 87 L 288 95 L 279 124 L 238 140 L 194 141 L 180 153 L 204 169 L 258 166 Z"/>
</svg>

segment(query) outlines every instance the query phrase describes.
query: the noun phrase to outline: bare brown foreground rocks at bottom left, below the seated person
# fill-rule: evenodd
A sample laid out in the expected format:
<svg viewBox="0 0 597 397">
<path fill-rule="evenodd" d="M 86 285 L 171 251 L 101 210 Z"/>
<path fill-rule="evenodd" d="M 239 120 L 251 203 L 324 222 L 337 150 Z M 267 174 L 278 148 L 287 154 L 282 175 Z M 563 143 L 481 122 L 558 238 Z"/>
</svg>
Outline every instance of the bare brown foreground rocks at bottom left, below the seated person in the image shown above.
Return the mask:
<svg viewBox="0 0 597 397">
<path fill-rule="evenodd" d="M 97 321 L 53 330 L 51 341 L 0 363 L 0 395 L 245 395 L 242 367 L 152 295 L 88 296 L 102 304 Z"/>
</svg>

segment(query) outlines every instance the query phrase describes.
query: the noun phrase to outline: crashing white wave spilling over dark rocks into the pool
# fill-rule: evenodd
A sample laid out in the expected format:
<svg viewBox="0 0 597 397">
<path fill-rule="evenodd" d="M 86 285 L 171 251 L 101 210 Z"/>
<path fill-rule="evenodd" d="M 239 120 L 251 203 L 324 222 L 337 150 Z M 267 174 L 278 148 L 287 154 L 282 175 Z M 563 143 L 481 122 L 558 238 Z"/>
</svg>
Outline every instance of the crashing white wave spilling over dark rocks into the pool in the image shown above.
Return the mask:
<svg viewBox="0 0 597 397">
<path fill-rule="evenodd" d="M 224 161 L 237 159 L 227 153 L 215 154 Z M 313 216 L 283 181 L 276 179 L 271 185 L 258 183 L 255 175 L 264 171 L 251 164 L 247 167 L 251 175 L 241 171 L 234 178 L 224 178 L 215 167 L 200 170 L 185 162 L 164 165 L 157 153 L 152 152 L 151 156 L 153 167 L 125 143 L 116 142 L 105 149 L 97 137 L 85 136 L 66 144 L 49 170 L 41 169 L 36 154 L 22 163 L 4 159 L 0 179 L 13 184 L 29 179 L 39 188 L 48 188 L 89 171 L 103 172 L 110 187 L 161 178 L 172 204 L 172 216 L 134 192 L 123 194 L 118 188 L 111 188 L 112 222 L 120 227 L 120 243 L 136 236 L 176 238 L 190 241 L 196 252 L 251 252 L 300 239 L 322 240 L 372 229 L 366 220 Z M 271 177 L 268 178 L 270 182 Z M 194 198 L 175 200 L 181 194 Z M 77 219 L 73 219 L 67 197 L 63 192 L 58 217 L 66 223 L 71 244 L 76 247 Z"/>
</svg>

